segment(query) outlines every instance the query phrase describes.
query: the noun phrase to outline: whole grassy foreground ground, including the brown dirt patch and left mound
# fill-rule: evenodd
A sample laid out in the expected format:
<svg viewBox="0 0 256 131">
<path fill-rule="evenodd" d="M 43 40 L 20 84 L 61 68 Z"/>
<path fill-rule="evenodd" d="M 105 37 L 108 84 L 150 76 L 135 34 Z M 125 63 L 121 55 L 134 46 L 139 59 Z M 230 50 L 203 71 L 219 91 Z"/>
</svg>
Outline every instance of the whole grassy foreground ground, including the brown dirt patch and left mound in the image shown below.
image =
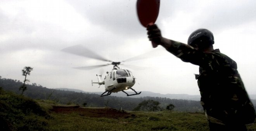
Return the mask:
<svg viewBox="0 0 256 131">
<path fill-rule="evenodd" d="M 1 131 L 207 131 L 203 113 L 59 105 L 0 90 Z M 256 124 L 248 126 L 256 131 Z"/>
</svg>

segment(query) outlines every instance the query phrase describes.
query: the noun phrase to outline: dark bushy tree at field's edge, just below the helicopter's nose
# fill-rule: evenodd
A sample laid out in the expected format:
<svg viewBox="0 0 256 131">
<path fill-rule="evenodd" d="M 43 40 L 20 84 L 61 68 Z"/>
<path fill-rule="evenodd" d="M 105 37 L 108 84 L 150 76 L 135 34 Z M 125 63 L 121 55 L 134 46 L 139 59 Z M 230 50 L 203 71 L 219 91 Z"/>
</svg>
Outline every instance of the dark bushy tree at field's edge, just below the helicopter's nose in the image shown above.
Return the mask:
<svg viewBox="0 0 256 131">
<path fill-rule="evenodd" d="M 161 107 L 159 106 L 158 101 L 154 100 L 144 100 L 135 107 L 134 111 L 160 111 Z"/>
</svg>

